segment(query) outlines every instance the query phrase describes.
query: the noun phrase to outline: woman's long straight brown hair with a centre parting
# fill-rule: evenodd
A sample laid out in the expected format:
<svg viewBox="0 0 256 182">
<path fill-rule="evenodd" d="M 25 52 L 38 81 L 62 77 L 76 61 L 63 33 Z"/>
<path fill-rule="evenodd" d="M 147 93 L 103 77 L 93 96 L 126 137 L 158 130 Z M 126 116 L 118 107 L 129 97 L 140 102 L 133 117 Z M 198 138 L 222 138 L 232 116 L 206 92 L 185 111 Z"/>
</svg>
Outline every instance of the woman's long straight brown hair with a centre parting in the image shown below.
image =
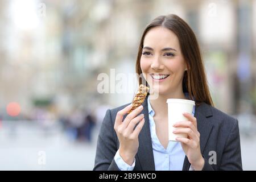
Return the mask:
<svg viewBox="0 0 256 182">
<path fill-rule="evenodd" d="M 183 76 L 183 92 L 188 92 L 190 98 L 193 96 L 195 98 L 196 105 L 200 105 L 202 102 L 205 102 L 206 104 L 213 106 L 196 36 L 188 24 L 177 15 L 170 14 L 166 16 L 158 16 L 145 28 L 142 34 L 141 43 L 139 43 L 136 73 L 138 75 L 142 74 L 140 61 L 144 37 L 149 30 L 159 26 L 168 28 L 174 32 L 179 39 L 181 53 L 185 59 L 188 69 L 184 72 Z M 146 82 L 143 77 L 141 79 L 138 77 L 139 84 Z"/>
</svg>

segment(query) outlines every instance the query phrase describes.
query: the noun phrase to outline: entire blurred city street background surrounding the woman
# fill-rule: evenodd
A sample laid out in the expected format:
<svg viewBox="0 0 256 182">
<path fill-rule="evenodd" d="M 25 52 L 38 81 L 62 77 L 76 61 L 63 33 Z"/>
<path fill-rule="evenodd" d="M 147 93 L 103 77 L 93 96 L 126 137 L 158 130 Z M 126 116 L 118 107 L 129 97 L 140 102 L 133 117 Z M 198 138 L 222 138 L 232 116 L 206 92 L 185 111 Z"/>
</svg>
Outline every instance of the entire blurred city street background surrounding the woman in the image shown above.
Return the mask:
<svg viewBox="0 0 256 182">
<path fill-rule="evenodd" d="M 136 91 L 142 31 L 167 14 L 195 32 L 214 105 L 238 119 L 256 170 L 256 0 L 0 0 L 0 170 L 92 170 L 106 110 Z"/>
</svg>

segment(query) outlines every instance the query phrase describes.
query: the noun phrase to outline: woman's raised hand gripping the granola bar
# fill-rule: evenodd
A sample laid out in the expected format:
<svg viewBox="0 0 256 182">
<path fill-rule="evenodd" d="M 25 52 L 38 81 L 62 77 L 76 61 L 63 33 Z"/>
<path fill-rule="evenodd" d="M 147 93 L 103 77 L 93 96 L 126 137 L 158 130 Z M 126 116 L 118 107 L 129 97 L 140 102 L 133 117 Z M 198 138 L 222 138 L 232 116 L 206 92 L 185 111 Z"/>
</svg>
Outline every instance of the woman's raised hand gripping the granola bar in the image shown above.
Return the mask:
<svg viewBox="0 0 256 182">
<path fill-rule="evenodd" d="M 133 164 L 135 155 L 137 154 L 139 148 L 138 137 L 145 122 L 144 115 L 138 115 L 143 110 L 142 105 L 128 114 L 123 121 L 123 116 L 131 110 L 132 106 L 126 106 L 124 109 L 118 111 L 114 125 L 114 130 L 119 140 L 119 155 L 130 166 Z M 139 124 L 134 130 L 137 123 Z"/>
</svg>

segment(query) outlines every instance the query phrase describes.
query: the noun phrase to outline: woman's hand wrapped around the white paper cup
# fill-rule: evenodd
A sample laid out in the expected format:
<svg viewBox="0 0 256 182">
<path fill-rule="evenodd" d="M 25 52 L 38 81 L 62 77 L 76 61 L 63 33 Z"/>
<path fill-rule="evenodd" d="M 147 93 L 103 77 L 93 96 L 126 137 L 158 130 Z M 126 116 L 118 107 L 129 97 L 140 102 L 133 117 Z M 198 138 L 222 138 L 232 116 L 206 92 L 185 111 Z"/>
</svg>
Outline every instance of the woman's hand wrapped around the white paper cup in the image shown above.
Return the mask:
<svg viewBox="0 0 256 182">
<path fill-rule="evenodd" d="M 175 123 L 174 127 L 179 129 L 174 130 L 174 134 L 187 134 L 188 138 L 177 137 L 176 140 L 181 142 L 181 146 L 185 155 L 187 155 L 189 163 L 197 171 L 204 167 L 204 158 L 200 149 L 200 133 L 197 131 L 197 121 L 193 115 L 184 113 L 184 117 L 189 121 L 181 121 Z"/>
</svg>

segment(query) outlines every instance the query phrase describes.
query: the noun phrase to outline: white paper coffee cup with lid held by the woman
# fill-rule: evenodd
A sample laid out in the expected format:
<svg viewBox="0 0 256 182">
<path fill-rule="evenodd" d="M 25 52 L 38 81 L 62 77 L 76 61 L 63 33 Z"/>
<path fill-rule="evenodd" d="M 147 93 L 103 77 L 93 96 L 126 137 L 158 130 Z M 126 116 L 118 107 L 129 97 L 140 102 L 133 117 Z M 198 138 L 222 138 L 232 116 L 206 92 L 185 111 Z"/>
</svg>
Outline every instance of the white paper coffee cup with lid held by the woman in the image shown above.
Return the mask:
<svg viewBox="0 0 256 182">
<path fill-rule="evenodd" d="M 195 101 L 169 98 L 167 99 L 168 104 L 168 138 L 170 141 L 176 141 L 176 137 L 187 138 L 187 134 L 174 134 L 172 131 L 174 129 L 179 129 L 178 127 L 173 127 L 176 122 L 188 121 L 184 117 L 183 113 L 191 113 L 193 111 L 193 106 L 195 106 Z"/>
</svg>

